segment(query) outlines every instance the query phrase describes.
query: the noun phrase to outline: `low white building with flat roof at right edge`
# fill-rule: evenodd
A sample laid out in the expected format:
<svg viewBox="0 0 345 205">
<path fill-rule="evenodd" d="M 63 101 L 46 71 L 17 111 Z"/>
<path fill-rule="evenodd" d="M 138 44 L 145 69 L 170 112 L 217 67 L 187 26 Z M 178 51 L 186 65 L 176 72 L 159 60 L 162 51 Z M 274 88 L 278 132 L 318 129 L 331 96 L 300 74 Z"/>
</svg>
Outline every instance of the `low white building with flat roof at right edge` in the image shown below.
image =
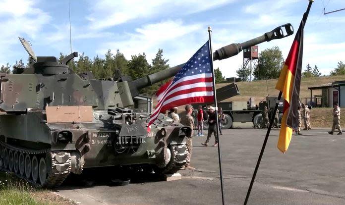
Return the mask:
<svg viewBox="0 0 345 205">
<path fill-rule="evenodd" d="M 334 103 L 338 103 L 340 107 L 345 107 L 345 81 L 310 86 L 308 89 L 312 106 L 332 107 Z M 321 90 L 321 96 L 313 96 L 314 90 Z"/>
</svg>

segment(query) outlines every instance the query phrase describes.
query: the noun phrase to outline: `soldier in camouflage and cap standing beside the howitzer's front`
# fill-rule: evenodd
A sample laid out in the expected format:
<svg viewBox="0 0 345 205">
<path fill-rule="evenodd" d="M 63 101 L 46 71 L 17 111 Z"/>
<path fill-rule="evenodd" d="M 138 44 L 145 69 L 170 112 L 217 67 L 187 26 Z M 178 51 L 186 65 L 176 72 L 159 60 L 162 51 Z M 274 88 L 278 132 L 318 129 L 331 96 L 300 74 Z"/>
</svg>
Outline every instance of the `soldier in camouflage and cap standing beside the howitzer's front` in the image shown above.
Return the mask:
<svg viewBox="0 0 345 205">
<path fill-rule="evenodd" d="M 182 167 L 182 169 L 195 169 L 194 167 L 190 166 L 190 159 L 192 156 L 192 148 L 193 148 L 192 137 L 193 137 L 193 130 L 194 130 L 194 125 L 195 125 L 194 118 L 192 117 L 193 107 L 191 105 L 186 105 L 185 110 L 186 110 L 186 115 L 181 117 L 180 123 L 182 125 L 189 126 L 190 128 L 192 128 L 192 131 L 191 131 L 190 136 L 187 137 L 187 142 L 186 142 L 186 146 L 188 150 L 188 155 L 186 158 L 187 162 L 186 162 L 186 165 Z"/>
</svg>

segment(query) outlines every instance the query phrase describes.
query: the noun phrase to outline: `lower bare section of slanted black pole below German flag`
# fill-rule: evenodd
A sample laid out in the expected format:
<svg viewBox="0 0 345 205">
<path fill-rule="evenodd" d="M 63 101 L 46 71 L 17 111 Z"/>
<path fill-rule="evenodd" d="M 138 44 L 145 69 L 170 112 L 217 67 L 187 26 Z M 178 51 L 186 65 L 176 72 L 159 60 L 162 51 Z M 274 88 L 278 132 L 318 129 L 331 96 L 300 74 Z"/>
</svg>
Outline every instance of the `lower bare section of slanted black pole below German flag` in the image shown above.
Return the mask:
<svg viewBox="0 0 345 205">
<path fill-rule="evenodd" d="M 276 102 L 276 106 L 274 107 L 273 113 L 277 112 L 279 102 L 280 102 L 280 100 L 282 98 L 282 94 L 283 94 L 283 92 L 279 92 L 279 96 L 278 96 L 278 99 L 277 99 L 277 102 Z M 253 187 L 254 180 L 255 180 L 255 177 L 256 177 L 256 173 L 258 172 L 258 169 L 259 169 L 259 166 L 260 166 L 262 155 L 264 154 L 264 151 L 265 151 L 265 147 L 266 147 L 266 144 L 267 144 L 268 136 L 270 136 L 270 132 L 271 132 L 271 128 L 272 128 L 272 125 L 273 125 L 273 121 L 274 121 L 274 114 L 271 116 L 270 125 L 269 125 L 269 127 L 267 129 L 267 133 L 266 133 L 265 140 L 264 140 L 264 143 L 263 143 L 262 148 L 261 148 L 259 159 L 256 162 L 255 170 L 254 170 L 254 173 L 253 173 L 253 177 L 252 177 L 252 179 L 250 181 L 250 185 L 249 185 L 249 188 L 248 188 L 247 196 L 245 197 L 244 205 L 246 205 L 247 202 L 248 202 L 250 191 L 251 191 L 251 189 Z"/>
</svg>

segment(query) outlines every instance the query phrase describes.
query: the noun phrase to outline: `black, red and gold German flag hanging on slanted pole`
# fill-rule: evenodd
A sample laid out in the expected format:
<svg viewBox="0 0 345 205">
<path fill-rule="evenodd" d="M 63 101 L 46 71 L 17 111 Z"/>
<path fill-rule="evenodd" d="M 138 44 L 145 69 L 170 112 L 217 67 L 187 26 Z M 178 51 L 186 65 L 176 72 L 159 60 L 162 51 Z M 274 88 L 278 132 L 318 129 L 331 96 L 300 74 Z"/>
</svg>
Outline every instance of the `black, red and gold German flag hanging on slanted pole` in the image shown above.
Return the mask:
<svg viewBox="0 0 345 205">
<path fill-rule="evenodd" d="M 299 90 L 301 84 L 302 56 L 303 56 L 303 29 L 309 9 L 304 13 L 296 36 L 293 40 L 287 60 L 281 70 L 276 89 L 283 92 L 284 110 L 281 130 L 279 133 L 278 149 L 285 153 L 291 141 L 292 128 L 298 125 Z"/>
</svg>

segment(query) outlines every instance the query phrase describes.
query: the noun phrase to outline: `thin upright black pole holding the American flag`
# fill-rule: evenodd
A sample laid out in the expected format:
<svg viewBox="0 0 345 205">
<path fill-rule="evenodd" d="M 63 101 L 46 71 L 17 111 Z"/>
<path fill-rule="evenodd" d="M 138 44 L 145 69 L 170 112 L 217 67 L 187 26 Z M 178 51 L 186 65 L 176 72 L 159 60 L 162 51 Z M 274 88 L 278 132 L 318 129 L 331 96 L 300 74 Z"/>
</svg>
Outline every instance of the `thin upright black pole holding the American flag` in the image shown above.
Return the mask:
<svg viewBox="0 0 345 205">
<path fill-rule="evenodd" d="M 218 106 L 217 106 L 217 94 L 216 94 L 216 80 L 215 80 L 215 70 L 213 69 L 213 52 L 212 52 L 212 43 L 211 43 L 211 26 L 208 27 L 209 32 L 209 47 L 210 47 L 210 58 L 211 58 L 211 69 L 213 77 L 213 97 L 215 102 L 215 111 L 216 111 L 216 126 L 217 126 L 217 139 L 218 139 L 218 160 L 219 160 L 219 175 L 221 179 L 221 191 L 222 191 L 222 203 L 225 205 L 224 198 L 224 184 L 223 184 L 223 171 L 222 171 L 222 153 L 221 153 L 221 142 L 219 137 L 219 120 L 218 120 Z"/>
</svg>

